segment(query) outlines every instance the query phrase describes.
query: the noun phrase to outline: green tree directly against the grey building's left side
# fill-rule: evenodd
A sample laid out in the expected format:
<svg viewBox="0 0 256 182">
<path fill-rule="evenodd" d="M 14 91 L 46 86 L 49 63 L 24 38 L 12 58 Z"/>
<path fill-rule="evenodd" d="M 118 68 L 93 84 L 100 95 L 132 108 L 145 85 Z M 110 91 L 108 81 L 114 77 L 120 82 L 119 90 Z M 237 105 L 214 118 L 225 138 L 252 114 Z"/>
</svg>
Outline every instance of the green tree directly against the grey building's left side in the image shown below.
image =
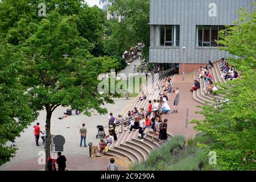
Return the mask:
<svg viewBox="0 0 256 182">
<path fill-rule="evenodd" d="M 113 6 L 110 11 L 124 14 L 124 22 L 118 23 L 118 27 L 113 27 L 113 35 L 110 38 L 109 48 L 122 48 L 119 54 L 122 54 L 127 47 L 136 46 L 139 42 L 144 44 L 143 57 L 148 60 L 150 47 L 150 1 L 141 0 L 112 0 Z M 122 38 L 122 41 L 119 39 Z M 125 43 L 123 43 L 125 42 Z M 108 44 L 107 44 L 108 45 Z"/>
</svg>

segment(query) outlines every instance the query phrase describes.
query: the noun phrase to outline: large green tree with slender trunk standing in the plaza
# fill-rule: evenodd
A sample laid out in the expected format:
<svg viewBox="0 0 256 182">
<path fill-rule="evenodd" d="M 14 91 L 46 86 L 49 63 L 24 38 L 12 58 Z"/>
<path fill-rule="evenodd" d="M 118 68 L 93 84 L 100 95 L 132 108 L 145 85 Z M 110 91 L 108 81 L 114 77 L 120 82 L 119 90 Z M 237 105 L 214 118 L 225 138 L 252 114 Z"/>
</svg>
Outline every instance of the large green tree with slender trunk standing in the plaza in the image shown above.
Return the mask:
<svg viewBox="0 0 256 182">
<path fill-rule="evenodd" d="M 79 36 L 74 16 L 61 16 L 52 11 L 40 22 L 34 35 L 24 44 L 28 68 L 24 85 L 31 88 L 32 105 L 45 109 L 46 131 L 50 136 L 52 112 L 58 106 L 71 106 L 86 115 L 92 110 L 106 113 L 101 106 L 113 103 L 109 94 L 97 92 L 98 73 L 106 72 L 106 65 L 95 63 L 89 43 Z M 68 53 L 69 57 L 63 55 Z M 29 58 L 30 57 L 30 58 Z M 50 138 L 46 138 L 46 159 L 50 155 Z M 46 167 L 47 169 L 47 167 Z"/>
</svg>

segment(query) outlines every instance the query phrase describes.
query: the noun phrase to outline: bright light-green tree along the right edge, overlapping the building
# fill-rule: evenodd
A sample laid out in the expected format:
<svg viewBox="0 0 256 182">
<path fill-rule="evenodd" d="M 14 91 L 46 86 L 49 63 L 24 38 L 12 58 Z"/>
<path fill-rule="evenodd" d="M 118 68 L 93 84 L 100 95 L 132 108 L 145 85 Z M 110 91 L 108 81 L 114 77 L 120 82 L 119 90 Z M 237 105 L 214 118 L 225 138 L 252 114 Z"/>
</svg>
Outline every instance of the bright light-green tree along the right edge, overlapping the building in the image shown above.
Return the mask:
<svg viewBox="0 0 256 182">
<path fill-rule="evenodd" d="M 195 119 L 196 130 L 208 134 L 212 142 L 201 144 L 217 152 L 217 163 L 224 170 L 254 170 L 256 148 L 256 73 L 255 73 L 255 7 L 253 13 L 241 10 L 237 26 L 222 31 L 219 43 L 226 51 L 243 57 L 234 60 L 242 78 L 220 84 L 218 91 L 229 101 L 216 106 L 204 106 L 199 113 L 204 120 Z"/>
</svg>

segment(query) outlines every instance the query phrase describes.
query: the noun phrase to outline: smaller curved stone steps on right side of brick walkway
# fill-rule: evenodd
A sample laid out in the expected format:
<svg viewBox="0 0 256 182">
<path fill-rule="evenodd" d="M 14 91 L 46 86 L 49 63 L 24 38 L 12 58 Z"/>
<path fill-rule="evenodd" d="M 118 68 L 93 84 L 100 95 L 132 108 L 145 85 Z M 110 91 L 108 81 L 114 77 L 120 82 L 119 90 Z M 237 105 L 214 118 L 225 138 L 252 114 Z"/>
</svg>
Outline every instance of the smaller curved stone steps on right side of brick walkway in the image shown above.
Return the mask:
<svg viewBox="0 0 256 182">
<path fill-rule="evenodd" d="M 226 80 L 224 80 L 221 75 L 222 72 L 220 71 L 220 62 L 217 61 L 213 64 L 213 68 L 209 69 L 210 74 L 213 76 L 213 83 L 221 82 L 222 84 L 226 83 Z M 196 80 L 197 77 L 199 77 L 200 69 L 198 71 L 194 72 L 194 80 Z M 205 88 L 205 81 L 203 78 L 200 78 L 200 89 L 197 89 L 193 92 L 193 98 L 203 105 L 213 105 L 214 104 L 214 98 L 217 100 L 223 100 L 224 96 L 221 94 L 218 94 L 216 96 L 213 96 L 212 94 L 208 94 L 205 96 L 204 92 Z"/>
</svg>

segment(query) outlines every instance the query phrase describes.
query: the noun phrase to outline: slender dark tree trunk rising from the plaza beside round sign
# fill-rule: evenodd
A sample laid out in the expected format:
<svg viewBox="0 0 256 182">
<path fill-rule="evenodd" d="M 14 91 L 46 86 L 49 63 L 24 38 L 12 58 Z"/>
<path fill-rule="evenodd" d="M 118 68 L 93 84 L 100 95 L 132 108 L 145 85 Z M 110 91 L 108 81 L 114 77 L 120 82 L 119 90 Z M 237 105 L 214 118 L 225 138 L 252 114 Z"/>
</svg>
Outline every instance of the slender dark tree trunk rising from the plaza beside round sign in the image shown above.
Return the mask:
<svg viewBox="0 0 256 182">
<path fill-rule="evenodd" d="M 46 171 L 48 171 L 47 167 L 47 159 L 51 156 L 51 117 L 52 111 L 48 107 L 46 107 Z"/>
</svg>

